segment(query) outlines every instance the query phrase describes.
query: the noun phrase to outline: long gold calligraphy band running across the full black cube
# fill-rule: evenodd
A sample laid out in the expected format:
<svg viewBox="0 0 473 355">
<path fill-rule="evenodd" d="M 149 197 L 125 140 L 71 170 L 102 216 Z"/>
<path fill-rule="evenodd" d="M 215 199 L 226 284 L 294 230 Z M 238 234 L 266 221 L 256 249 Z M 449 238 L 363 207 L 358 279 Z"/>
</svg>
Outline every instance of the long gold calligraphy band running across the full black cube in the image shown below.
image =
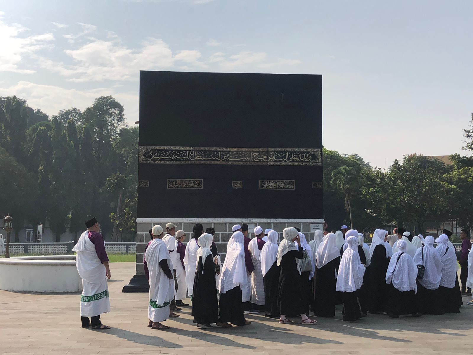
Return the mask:
<svg viewBox="0 0 473 355">
<path fill-rule="evenodd" d="M 318 148 L 208 148 L 141 146 L 139 163 L 322 165 Z"/>
</svg>

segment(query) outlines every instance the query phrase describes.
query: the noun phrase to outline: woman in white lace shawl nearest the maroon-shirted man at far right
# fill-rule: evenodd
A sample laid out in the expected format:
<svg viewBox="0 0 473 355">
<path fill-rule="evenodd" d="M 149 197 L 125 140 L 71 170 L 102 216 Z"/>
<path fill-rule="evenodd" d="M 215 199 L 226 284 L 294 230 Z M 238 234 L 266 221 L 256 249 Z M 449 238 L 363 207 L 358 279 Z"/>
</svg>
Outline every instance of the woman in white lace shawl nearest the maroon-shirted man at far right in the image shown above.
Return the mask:
<svg viewBox="0 0 473 355">
<path fill-rule="evenodd" d="M 442 260 L 442 278 L 438 286 L 440 304 L 445 313 L 460 313 L 461 304 L 458 300 L 458 290 L 455 287 L 456 280 L 456 255 L 455 249 L 448 246 L 447 234 L 441 234 L 435 240 L 440 260 Z"/>
</svg>

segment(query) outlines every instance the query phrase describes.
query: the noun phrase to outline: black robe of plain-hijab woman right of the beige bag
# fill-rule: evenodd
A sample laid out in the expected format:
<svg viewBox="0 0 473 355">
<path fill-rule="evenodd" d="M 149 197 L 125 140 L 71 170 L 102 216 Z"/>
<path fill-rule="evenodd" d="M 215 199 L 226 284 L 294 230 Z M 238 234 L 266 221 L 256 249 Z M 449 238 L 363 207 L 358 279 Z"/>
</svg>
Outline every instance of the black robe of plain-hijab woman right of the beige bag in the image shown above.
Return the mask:
<svg viewBox="0 0 473 355">
<path fill-rule="evenodd" d="M 334 317 L 337 279 L 335 271 L 340 265 L 340 257 L 334 258 L 320 269 L 315 269 L 314 275 L 314 314 L 318 317 Z"/>
</svg>

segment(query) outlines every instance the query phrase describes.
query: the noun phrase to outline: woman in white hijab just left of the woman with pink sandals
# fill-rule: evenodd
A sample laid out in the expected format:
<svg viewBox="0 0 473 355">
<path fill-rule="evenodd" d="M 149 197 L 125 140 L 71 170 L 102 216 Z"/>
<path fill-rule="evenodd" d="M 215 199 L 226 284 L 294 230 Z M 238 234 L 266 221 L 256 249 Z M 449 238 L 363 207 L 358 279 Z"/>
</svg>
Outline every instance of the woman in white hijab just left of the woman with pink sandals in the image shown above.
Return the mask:
<svg viewBox="0 0 473 355">
<path fill-rule="evenodd" d="M 264 315 L 270 318 L 279 317 L 278 284 L 280 267 L 277 265 L 278 232 L 269 231 L 268 241 L 260 253 L 261 271 L 264 285 Z"/>
</svg>

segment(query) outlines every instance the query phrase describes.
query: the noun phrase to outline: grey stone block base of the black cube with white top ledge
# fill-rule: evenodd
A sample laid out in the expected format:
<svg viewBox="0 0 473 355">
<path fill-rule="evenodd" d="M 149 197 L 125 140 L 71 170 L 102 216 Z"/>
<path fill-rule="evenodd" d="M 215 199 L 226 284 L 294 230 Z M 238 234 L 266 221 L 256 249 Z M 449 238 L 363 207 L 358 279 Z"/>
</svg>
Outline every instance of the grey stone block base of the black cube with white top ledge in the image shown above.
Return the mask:
<svg viewBox="0 0 473 355">
<path fill-rule="evenodd" d="M 195 223 L 201 223 L 204 227 L 204 231 L 208 227 L 215 228 L 215 235 L 214 235 L 214 242 L 217 245 L 217 249 L 219 250 L 220 258 L 223 260 L 225 259 L 225 255 L 227 253 L 227 243 L 232 236 L 232 227 L 235 224 L 248 224 L 249 228 L 249 238 L 253 238 L 253 226 L 261 226 L 263 230 L 271 228 L 274 231 L 277 231 L 279 234 L 279 241 L 282 240 L 282 230 L 287 227 L 298 227 L 302 233 L 305 234 L 307 242 L 314 239 L 315 233 L 310 232 L 310 225 L 312 223 L 323 223 L 324 220 L 322 219 L 314 219 L 314 220 L 300 220 L 300 219 L 288 219 L 288 220 L 281 220 L 281 219 L 274 219 L 274 220 L 238 220 L 238 219 L 164 219 L 164 218 L 157 218 L 157 219 L 137 219 L 137 233 L 136 233 L 136 274 L 144 274 L 144 266 L 143 266 L 143 254 L 146 245 L 150 240 L 150 236 L 148 231 L 156 224 L 159 224 L 163 227 L 163 230 L 166 227 L 166 223 L 173 222 L 178 230 L 183 230 L 185 232 L 185 241 L 186 244 L 192 236 L 192 227 Z"/>
</svg>

